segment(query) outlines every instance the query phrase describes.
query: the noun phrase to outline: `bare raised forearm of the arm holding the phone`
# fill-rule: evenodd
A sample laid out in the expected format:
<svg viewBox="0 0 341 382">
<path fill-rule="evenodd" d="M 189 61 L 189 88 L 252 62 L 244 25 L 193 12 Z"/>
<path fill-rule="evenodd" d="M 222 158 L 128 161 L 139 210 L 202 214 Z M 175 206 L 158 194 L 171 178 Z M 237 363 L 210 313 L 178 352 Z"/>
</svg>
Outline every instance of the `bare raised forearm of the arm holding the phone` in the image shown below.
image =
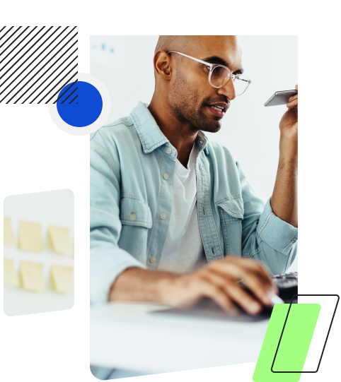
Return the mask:
<svg viewBox="0 0 341 382">
<path fill-rule="evenodd" d="M 277 217 L 294 227 L 297 227 L 297 174 L 296 150 L 281 141 L 277 177 L 270 204 Z"/>
</svg>

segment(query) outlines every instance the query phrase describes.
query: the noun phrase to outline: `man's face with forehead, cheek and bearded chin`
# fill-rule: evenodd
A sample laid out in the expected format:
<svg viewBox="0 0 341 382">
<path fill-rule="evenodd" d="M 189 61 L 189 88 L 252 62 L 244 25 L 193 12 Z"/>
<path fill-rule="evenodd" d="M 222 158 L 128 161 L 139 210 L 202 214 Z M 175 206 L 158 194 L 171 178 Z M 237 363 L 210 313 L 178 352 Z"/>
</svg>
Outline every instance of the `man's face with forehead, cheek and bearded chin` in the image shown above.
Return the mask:
<svg viewBox="0 0 341 382">
<path fill-rule="evenodd" d="M 188 56 L 211 64 L 227 66 L 231 73 L 242 73 L 241 47 L 235 36 L 197 36 Z M 190 123 L 197 130 L 216 133 L 221 128 L 221 120 L 229 107 L 229 100 L 236 97 L 233 80 L 230 78 L 222 88 L 209 84 L 209 68 L 204 64 L 180 54 L 171 54 L 176 60 L 175 76 L 170 83 L 168 101 L 175 117 Z M 212 105 L 225 107 L 217 112 Z"/>
</svg>

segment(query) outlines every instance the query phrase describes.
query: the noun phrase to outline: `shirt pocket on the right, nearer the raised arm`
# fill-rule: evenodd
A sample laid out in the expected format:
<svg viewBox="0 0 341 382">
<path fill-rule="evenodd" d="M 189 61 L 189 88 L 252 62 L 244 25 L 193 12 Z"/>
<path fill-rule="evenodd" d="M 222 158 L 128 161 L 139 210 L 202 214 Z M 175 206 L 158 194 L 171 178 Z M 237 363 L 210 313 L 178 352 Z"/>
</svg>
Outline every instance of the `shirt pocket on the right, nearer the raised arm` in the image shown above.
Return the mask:
<svg viewBox="0 0 341 382">
<path fill-rule="evenodd" d="M 216 201 L 223 231 L 225 254 L 241 256 L 242 220 L 244 204 L 241 193 Z"/>
</svg>

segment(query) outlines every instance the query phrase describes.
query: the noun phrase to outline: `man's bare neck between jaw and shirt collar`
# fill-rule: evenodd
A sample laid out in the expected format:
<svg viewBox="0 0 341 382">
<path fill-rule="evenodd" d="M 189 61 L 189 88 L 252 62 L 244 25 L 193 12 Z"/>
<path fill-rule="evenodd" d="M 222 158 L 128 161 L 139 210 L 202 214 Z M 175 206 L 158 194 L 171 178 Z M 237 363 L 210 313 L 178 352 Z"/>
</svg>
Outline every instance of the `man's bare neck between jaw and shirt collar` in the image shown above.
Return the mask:
<svg viewBox="0 0 341 382">
<path fill-rule="evenodd" d="M 180 163 L 187 167 L 198 131 L 193 129 L 190 123 L 179 121 L 172 113 L 167 100 L 160 97 L 156 92 L 154 92 L 148 109 L 160 130 L 177 150 Z"/>
</svg>

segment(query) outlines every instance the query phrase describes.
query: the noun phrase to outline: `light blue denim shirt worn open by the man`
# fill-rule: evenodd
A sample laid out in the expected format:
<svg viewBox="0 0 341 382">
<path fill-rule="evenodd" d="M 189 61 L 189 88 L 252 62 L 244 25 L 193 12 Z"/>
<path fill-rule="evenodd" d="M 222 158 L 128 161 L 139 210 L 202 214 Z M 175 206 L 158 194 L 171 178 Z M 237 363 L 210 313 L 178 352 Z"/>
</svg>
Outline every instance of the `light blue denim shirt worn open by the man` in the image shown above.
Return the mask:
<svg viewBox="0 0 341 382">
<path fill-rule="evenodd" d="M 132 266 L 158 269 L 172 210 L 175 148 L 142 102 L 90 137 L 91 304 L 108 301 L 115 277 Z M 197 211 L 207 261 L 229 254 L 284 273 L 297 229 L 256 196 L 228 148 L 199 131 Z M 168 177 L 163 177 L 168 174 Z"/>
</svg>

